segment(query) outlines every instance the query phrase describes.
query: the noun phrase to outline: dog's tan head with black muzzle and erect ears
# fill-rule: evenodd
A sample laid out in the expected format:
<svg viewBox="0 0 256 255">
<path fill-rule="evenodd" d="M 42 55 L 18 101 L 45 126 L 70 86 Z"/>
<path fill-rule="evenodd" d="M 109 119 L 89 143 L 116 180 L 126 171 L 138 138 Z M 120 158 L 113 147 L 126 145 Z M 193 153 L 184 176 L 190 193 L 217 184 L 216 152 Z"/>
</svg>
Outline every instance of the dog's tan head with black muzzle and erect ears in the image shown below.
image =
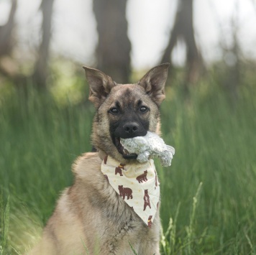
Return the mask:
<svg viewBox="0 0 256 255">
<path fill-rule="evenodd" d="M 157 65 L 136 84 L 117 84 L 100 70 L 83 67 L 90 86 L 89 100 L 96 107 L 92 134 L 96 149 L 125 164 L 137 158 L 124 152 L 120 138 L 159 131 L 168 67 L 168 63 Z"/>
</svg>

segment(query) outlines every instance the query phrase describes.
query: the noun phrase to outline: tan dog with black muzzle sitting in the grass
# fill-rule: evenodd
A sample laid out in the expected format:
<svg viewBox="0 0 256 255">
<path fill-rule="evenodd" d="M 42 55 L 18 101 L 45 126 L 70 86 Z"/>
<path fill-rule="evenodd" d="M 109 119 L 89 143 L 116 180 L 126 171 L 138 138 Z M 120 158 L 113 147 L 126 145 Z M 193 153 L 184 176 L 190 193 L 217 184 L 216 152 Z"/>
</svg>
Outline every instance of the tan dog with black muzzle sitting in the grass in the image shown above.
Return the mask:
<svg viewBox="0 0 256 255">
<path fill-rule="evenodd" d="M 158 204 L 154 221 L 151 216 L 148 220 L 149 228 L 109 185 L 101 163 L 111 157 L 123 166 L 140 164 L 136 154 L 124 152 L 120 137 L 160 133 L 160 103 L 165 99 L 168 66 L 157 65 L 135 84 L 117 84 L 100 70 L 83 67 L 89 100 L 96 107 L 91 140 L 97 151 L 74 162 L 73 185 L 63 191 L 42 241 L 30 254 L 124 255 L 134 254 L 132 249 L 142 255 L 160 254 Z"/>
</svg>

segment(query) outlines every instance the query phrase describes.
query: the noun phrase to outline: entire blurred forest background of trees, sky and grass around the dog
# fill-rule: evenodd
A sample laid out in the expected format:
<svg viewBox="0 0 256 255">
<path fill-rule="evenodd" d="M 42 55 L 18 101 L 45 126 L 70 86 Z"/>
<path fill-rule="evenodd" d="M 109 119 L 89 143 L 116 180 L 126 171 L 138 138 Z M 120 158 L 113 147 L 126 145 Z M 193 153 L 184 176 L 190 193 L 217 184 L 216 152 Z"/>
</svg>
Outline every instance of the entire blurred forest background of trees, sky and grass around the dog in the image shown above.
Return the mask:
<svg viewBox="0 0 256 255">
<path fill-rule="evenodd" d="M 82 65 L 127 83 L 162 62 L 161 252 L 256 254 L 255 24 L 255 0 L 0 0 L 0 254 L 37 243 L 91 151 Z"/>
</svg>

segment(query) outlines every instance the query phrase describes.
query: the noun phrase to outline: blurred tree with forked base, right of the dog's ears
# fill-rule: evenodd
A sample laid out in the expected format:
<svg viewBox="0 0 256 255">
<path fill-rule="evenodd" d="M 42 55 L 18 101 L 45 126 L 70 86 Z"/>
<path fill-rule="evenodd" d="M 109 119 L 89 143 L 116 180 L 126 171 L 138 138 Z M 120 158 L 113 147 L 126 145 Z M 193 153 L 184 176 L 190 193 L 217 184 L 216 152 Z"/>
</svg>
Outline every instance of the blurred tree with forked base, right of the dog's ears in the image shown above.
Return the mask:
<svg viewBox="0 0 256 255">
<path fill-rule="evenodd" d="M 186 44 L 186 81 L 194 83 L 198 79 L 200 70 L 203 67 L 203 60 L 196 47 L 193 30 L 193 0 L 178 1 L 175 22 L 161 62 L 172 62 L 171 54 L 178 39 L 184 40 Z"/>
</svg>

